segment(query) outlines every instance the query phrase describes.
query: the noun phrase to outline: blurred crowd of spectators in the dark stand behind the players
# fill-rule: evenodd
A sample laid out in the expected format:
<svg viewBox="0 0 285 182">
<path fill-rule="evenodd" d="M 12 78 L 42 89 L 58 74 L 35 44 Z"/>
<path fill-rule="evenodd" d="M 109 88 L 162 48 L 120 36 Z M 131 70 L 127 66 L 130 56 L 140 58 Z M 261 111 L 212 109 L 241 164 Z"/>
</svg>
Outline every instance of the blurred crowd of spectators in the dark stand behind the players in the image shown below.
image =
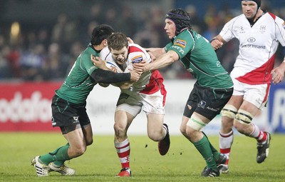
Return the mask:
<svg viewBox="0 0 285 182">
<path fill-rule="evenodd" d="M 208 40 L 219 34 L 229 19 L 242 13 L 240 7 L 229 9 L 228 6 L 222 9 L 209 6 L 203 16 L 199 16 L 197 8 L 192 5 L 186 6 L 185 10 L 192 16 L 192 28 Z M 285 19 L 281 9 L 269 10 Z M 140 46 L 163 47 L 169 42 L 164 30 L 165 13 L 159 6 L 135 12 L 130 6 L 107 8 L 98 3 L 90 6 L 89 19 L 71 19 L 68 14 L 59 14 L 50 27 L 25 29 L 16 35 L 2 34 L 5 31 L 1 31 L 0 81 L 64 79 L 78 55 L 86 49 L 91 32 L 98 24 L 113 26 L 115 31 L 130 36 Z M 19 25 L 21 27 L 21 22 Z M 237 50 L 237 41 L 231 41 L 217 51 L 227 71 L 232 70 Z M 276 64 L 280 64 L 283 59 L 284 49 L 279 48 Z M 165 79 L 192 78 L 180 63 L 172 64 L 161 72 Z"/>
</svg>

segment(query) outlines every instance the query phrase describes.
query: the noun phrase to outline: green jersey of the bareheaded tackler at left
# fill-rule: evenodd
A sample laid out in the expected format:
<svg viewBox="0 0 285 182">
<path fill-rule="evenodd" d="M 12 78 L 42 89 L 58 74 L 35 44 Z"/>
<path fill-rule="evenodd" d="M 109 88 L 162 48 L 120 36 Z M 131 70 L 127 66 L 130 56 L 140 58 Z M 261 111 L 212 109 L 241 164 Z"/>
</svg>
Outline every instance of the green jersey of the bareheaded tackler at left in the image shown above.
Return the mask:
<svg viewBox="0 0 285 182">
<path fill-rule="evenodd" d="M 100 52 L 88 46 L 76 59 L 71 71 L 56 95 L 71 103 L 86 103 L 86 99 L 97 82 L 91 79 L 90 74 L 98 67 L 91 61 L 91 54 L 99 56 Z"/>
</svg>

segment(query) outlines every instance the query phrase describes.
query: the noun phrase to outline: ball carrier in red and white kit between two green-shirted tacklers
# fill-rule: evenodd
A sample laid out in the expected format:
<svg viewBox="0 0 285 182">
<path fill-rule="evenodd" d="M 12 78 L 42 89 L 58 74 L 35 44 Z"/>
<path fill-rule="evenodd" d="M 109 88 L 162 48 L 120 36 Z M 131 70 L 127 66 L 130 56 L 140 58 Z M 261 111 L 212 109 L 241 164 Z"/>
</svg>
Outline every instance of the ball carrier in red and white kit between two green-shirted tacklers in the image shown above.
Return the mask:
<svg viewBox="0 0 285 182">
<path fill-rule="evenodd" d="M 142 60 L 151 61 L 145 49 L 138 44 L 129 44 L 127 37 L 121 33 L 112 34 L 108 38 L 108 48 L 100 52 L 100 59 L 108 61 L 108 64 L 113 65 L 118 72 L 128 72 L 133 68 L 133 63 Z M 98 62 L 93 62 L 97 66 Z M 158 70 L 144 72 L 136 82 L 113 85 L 121 89 L 114 124 L 114 143 L 122 166 L 117 176 L 130 176 L 130 141 L 127 132 L 141 110 L 147 115 L 147 135 L 153 141 L 159 141 L 160 154 L 164 156 L 170 148 L 168 127 L 163 123 L 167 92 Z"/>
</svg>

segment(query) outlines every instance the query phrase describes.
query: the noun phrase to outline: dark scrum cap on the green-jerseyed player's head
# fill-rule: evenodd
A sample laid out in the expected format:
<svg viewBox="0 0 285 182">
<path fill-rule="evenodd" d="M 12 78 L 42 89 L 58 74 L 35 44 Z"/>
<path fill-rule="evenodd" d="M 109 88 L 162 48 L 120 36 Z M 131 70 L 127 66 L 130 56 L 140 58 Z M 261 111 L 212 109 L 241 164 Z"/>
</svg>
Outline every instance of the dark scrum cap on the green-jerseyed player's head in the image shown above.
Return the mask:
<svg viewBox="0 0 285 182">
<path fill-rule="evenodd" d="M 184 29 L 191 29 L 190 14 L 182 9 L 172 9 L 165 15 L 165 19 L 171 19 L 175 23 L 176 36 Z"/>
</svg>

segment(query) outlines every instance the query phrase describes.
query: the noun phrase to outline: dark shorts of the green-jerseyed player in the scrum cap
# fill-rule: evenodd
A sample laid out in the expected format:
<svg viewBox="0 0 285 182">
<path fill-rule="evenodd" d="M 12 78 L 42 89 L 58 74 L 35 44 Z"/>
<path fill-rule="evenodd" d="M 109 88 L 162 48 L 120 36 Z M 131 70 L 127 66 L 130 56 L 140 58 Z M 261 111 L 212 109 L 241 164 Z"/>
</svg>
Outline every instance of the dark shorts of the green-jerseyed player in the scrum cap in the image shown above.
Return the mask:
<svg viewBox="0 0 285 182">
<path fill-rule="evenodd" d="M 199 86 L 196 82 L 187 100 L 183 116 L 190 118 L 192 113 L 197 112 L 212 120 L 229 101 L 233 91 L 233 88 L 211 89 Z"/>
</svg>

